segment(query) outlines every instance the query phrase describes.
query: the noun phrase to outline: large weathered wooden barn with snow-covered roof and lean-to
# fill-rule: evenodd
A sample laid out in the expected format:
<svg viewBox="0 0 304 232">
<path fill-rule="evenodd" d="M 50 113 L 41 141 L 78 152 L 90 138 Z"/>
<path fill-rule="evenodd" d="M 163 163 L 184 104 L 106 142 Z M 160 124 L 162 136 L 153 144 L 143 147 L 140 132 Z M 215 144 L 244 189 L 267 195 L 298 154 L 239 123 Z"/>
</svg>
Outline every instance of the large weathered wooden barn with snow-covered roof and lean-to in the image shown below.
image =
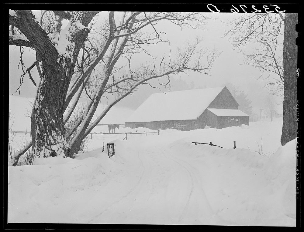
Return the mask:
<svg viewBox="0 0 304 232">
<path fill-rule="evenodd" d="M 125 127 L 181 130 L 249 125 L 249 116 L 226 87 L 154 93 L 126 120 Z"/>
</svg>

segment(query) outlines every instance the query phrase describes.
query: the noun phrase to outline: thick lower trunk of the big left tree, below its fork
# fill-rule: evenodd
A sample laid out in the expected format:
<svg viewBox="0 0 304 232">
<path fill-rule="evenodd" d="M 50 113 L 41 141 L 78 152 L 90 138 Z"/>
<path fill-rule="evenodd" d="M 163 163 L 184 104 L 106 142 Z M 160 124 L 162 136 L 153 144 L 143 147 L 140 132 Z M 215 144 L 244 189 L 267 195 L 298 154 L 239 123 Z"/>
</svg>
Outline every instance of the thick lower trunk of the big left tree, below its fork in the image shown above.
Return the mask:
<svg viewBox="0 0 304 232">
<path fill-rule="evenodd" d="M 63 106 L 69 81 L 64 62 L 55 67 L 44 66 L 43 74 L 34 106 L 34 157 L 65 157 L 68 145 L 64 139 Z"/>
</svg>

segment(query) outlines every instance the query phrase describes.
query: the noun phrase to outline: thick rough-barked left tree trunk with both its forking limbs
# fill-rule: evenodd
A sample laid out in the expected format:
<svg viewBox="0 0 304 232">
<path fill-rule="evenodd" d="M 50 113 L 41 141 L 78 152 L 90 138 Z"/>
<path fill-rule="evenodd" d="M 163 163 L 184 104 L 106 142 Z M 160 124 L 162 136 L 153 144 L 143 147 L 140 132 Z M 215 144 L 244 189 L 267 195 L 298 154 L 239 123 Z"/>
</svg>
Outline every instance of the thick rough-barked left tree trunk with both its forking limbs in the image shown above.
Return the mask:
<svg viewBox="0 0 304 232">
<path fill-rule="evenodd" d="M 15 11 L 10 24 L 26 36 L 39 57 L 42 79 L 33 110 L 33 157 L 65 157 L 69 146 L 64 136 L 64 103 L 75 62 L 88 36 L 88 23 L 97 12 L 73 12 L 67 26 L 64 53 L 51 42 L 31 11 Z M 60 46 L 60 44 L 58 45 Z M 34 160 L 34 159 L 33 159 Z"/>
</svg>

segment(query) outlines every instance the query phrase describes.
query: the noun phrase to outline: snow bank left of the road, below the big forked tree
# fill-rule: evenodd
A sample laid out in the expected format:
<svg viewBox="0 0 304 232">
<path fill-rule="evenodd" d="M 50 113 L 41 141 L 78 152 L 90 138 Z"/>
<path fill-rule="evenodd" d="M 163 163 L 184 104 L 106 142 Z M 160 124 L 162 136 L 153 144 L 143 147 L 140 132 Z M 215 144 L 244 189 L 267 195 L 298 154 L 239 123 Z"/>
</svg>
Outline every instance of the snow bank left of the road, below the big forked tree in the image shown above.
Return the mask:
<svg viewBox="0 0 304 232">
<path fill-rule="evenodd" d="M 110 197 L 98 196 L 98 189 L 118 180 L 124 167 L 115 158 L 96 150 L 79 159 L 48 157 L 9 167 L 8 222 L 81 222 L 79 215 L 93 213 L 95 201 Z"/>
</svg>

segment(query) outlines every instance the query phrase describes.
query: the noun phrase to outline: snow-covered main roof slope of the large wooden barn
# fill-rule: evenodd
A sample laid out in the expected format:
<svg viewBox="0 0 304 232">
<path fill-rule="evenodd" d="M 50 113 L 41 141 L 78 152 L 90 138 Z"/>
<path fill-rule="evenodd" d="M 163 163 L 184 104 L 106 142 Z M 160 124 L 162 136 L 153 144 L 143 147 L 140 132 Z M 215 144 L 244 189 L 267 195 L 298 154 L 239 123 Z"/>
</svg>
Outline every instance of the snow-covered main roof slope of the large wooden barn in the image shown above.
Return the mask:
<svg viewBox="0 0 304 232">
<path fill-rule="evenodd" d="M 126 122 L 197 119 L 224 88 L 225 86 L 151 94 Z"/>
</svg>

